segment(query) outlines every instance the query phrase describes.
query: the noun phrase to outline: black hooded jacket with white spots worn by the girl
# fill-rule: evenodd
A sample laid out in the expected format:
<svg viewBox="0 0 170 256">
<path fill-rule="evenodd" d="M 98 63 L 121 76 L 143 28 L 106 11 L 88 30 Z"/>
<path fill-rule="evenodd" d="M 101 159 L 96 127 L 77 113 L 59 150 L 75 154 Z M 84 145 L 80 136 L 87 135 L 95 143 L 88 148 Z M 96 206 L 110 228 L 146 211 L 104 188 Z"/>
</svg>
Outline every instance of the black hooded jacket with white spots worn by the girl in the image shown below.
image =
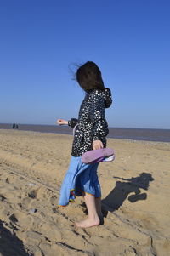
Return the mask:
<svg viewBox="0 0 170 256">
<path fill-rule="evenodd" d="M 93 89 L 85 95 L 80 107 L 78 119 L 71 118 L 68 125 L 74 128 L 72 156 L 82 156 L 86 151 L 92 150 L 94 140 L 101 140 L 106 147 L 106 136 L 109 134 L 108 124 L 105 120 L 105 108 L 111 106 L 111 90 Z"/>
</svg>

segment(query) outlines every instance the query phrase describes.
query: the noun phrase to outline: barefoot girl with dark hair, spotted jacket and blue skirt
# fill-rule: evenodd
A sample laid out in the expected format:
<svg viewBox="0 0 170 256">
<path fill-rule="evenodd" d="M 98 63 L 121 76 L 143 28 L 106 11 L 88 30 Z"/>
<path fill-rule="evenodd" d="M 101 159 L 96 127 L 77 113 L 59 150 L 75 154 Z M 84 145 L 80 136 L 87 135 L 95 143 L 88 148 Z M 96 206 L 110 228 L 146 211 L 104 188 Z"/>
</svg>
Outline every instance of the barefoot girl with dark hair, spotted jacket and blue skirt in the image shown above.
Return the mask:
<svg viewBox="0 0 170 256">
<path fill-rule="evenodd" d="M 61 186 L 59 205 L 66 206 L 76 196 L 84 196 L 88 208 L 88 219 L 77 222 L 77 227 L 87 228 L 99 225 L 101 212 L 101 190 L 97 175 L 99 162 L 82 163 L 86 151 L 106 147 L 109 133 L 105 120 L 105 108 L 111 106 L 111 90 L 105 88 L 99 67 L 88 61 L 77 69 L 77 82 L 86 92 L 80 107 L 78 119 L 58 119 L 59 125 L 68 124 L 74 128 L 70 167 Z"/>
</svg>

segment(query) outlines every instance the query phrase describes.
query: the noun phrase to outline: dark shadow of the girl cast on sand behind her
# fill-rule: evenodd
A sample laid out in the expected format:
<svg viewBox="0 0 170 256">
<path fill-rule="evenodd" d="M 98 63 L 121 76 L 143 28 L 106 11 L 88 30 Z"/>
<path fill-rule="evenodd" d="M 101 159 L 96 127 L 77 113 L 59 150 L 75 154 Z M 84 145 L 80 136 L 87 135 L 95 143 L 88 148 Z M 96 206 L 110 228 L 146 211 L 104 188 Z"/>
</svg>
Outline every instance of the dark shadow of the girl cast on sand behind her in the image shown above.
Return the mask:
<svg viewBox="0 0 170 256">
<path fill-rule="evenodd" d="M 121 179 L 122 181 L 116 181 L 116 186 L 110 192 L 105 199 L 102 200 L 102 210 L 105 217 L 107 216 L 108 211 L 114 212 L 118 210 L 127 199 L 127 196 L 130 193 L 134 193 L 131 196 L 128 196 L 128 201 L 137 202 L 139 200 L 145 200 L 147 198 L 146 193 L 141 193 L 139 189 L 148 190 L 150 181 L 153 181 L 151 174 L 142 173 L 139 177 L 132 177 L 130 179 L 124 179 L 120 177 L 113 177 L 115 179 Z"/>
</svg>

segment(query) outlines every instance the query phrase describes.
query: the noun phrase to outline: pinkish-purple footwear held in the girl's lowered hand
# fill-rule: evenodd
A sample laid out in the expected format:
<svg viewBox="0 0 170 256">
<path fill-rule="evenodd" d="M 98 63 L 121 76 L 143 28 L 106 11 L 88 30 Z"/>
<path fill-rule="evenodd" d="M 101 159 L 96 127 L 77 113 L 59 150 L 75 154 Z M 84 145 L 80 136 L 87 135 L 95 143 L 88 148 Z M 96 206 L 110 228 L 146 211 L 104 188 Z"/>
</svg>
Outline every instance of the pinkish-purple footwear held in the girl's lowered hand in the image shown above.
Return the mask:
<svg viewBox="0 0 170 256">
<path fill-rule="evenodd" d="M 84 163 L 93 163 L 93 162 L 102 162 L 105 157 L 113 156 L 114 151 L 111 148 L 104 148 L 99 150 L 87 151 L 82 154 L 82 162 Z"/>
</svg>

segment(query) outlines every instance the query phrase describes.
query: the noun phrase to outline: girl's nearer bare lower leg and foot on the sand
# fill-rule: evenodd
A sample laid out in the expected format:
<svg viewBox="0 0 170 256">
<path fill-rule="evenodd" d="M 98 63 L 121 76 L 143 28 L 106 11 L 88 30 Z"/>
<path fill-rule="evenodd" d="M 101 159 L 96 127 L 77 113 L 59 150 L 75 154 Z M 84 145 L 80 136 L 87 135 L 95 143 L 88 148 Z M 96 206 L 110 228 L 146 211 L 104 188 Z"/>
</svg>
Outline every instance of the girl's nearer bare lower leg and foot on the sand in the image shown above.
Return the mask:
<svg viewBox="0 0 170 256">
<path fill-rule="evenodd" d="M 88 219 L 77 222 L 77 227 L 89 228 L 94 225 L 99 225 L 99 216 L 96 209 L 95 197 L 85 193 L 84 200 L 88 208 Z"/>
</svg>

